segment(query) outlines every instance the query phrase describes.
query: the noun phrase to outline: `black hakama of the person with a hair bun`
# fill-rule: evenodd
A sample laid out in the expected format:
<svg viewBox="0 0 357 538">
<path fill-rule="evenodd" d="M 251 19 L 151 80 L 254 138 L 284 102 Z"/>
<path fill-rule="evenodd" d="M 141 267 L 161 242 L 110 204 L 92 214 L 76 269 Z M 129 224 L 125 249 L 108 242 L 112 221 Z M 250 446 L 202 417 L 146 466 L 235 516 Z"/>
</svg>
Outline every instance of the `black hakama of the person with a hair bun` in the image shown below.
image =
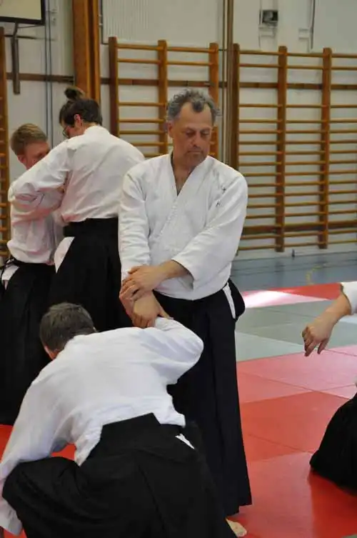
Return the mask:
<svg viewBox="0 0 357 538">
<path fill-rule="evenodd" d="M 118 219 L 72 222 L 64 235 L 74 240 L 54 277 L 50 303 L 81 304 L 98 331 L 131 327 L 119 301 Z"/>
</svg>

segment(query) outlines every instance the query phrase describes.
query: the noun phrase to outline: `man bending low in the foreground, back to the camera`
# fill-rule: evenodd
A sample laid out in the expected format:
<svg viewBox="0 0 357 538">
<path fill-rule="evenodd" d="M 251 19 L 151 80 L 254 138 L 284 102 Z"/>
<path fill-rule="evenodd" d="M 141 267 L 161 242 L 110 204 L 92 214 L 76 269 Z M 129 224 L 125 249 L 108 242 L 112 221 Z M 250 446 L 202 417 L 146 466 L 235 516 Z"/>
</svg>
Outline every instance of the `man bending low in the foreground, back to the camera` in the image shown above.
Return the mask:
<svg viewBox="0 0 357 538">
<path fill-rule="evenodd" d="M 51 307 L 51 359 L 29 388 L 0 464 L 0 526 L 27 538 L 231 538 L 194 427 L 167 384 L 203 343 L 171 319 L 98 333 Z M 50 457 L 68 443 L 76 461 Z"/>
</svg>

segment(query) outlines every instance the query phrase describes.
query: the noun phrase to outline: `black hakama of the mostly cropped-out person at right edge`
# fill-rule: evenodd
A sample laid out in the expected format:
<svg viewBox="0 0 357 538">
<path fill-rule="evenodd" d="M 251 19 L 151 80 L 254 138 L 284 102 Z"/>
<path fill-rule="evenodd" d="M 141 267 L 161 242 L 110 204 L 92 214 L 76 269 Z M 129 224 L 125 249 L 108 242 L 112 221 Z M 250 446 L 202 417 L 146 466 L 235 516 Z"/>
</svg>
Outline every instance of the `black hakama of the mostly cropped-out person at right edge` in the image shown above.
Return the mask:
<svg viewBox="0 0 357 538">
<path fill-rule="evenodd" d="M 337 409 L 310 464 L 339 487 L 357 490 L 357 394 Z"/>
</svg>

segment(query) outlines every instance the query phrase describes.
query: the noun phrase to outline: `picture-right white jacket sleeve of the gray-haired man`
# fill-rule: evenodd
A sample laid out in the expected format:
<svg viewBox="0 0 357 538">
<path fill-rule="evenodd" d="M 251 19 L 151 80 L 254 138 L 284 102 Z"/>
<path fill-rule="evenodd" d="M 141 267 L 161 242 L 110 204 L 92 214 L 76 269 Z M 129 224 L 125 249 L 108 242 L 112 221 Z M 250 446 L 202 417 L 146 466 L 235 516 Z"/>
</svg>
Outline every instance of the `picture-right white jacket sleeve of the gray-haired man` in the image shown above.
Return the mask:
<svg viewBox="0 0 357 538">
<path fill-rule="evenodd" d="M 205 229 L 174 256 L 173 260 L 192 275 L 193 288 L 205 284 L 212 274 L 218 274 L 233 260 L 246 219 L 247 202 L 246 180 L 238 174 L 209 209 Z"/>
</svg>

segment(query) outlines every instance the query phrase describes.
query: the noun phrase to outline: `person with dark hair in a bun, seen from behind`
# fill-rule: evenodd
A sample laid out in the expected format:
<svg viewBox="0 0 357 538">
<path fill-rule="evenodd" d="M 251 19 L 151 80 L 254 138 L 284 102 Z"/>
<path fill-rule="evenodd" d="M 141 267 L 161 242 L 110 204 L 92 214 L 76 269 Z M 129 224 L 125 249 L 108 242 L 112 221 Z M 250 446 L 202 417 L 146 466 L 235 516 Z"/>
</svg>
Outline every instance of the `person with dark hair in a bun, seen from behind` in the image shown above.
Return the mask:
<svg viewBox="0 0 357 538">
<path fill-rule="evenodd" d="M 119 193 L 124 175 L 144 156 L 102 126 L 99 104 L 77 88 L 59 112 L 65 140 L 9 189 L 24 219 L 58 209 L 64 239 L 54 255 L 49 304 L 81 304 L 99 331 L 130 325 L 119 302 Z M 58 204 L 49 204 L 54 192 Z"/>
</svg>

